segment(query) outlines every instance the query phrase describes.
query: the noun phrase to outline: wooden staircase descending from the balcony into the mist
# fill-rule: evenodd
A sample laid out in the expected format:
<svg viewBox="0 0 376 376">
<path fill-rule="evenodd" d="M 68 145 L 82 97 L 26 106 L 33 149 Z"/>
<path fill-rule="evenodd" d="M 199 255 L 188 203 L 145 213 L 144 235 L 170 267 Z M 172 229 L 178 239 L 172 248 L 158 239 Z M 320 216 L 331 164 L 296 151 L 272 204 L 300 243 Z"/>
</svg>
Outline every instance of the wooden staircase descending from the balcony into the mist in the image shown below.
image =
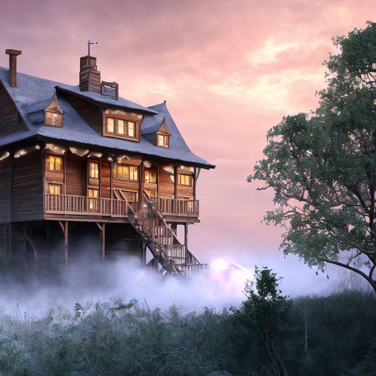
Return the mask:
<svg viewBox="0 0 376 376">
<path fill-rule="evenodd" d="M 168 274 L 182 276 L 206 268 L 207 264 L 201 264 L 188 251 L 186 245 L 180 243 L 162 213 L 156 209 L 155 203 L 149 200 L 146 192 L 143 198 L 144 201 L 137 208 L 139 211 L 127 201 L 130 213 L 128 218 L 162 268 Z"/>
</svg>

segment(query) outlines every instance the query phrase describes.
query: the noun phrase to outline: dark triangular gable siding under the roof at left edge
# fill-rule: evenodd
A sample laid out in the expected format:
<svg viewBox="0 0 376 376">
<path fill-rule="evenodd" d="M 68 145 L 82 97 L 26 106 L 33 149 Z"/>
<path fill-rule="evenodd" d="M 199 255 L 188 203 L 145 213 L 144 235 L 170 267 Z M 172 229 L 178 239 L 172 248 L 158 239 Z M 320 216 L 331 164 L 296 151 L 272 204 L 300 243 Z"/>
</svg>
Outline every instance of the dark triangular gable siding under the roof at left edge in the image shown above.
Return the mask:
<svg viewBox="0 0 376 376">
<path fill-rule="evenodd" d="M 24 120 L 18 114 L 15 104 L 0 83 L 0 137 L 23 131 L 27 131 Z"/>
</svg>

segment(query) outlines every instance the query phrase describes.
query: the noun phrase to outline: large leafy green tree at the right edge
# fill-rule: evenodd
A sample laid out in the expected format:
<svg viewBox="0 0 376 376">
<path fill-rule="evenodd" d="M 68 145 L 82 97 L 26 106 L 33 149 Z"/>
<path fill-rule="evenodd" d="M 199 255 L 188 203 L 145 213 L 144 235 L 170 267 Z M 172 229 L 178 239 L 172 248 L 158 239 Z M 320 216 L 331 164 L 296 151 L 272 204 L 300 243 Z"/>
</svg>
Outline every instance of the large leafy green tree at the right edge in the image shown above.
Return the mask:
<svg viewBox="0 0 376 376">
<path fill-rule="evenodd" d="M 376 292 L 376 24 L 332 40 L 340 53 L 323 63 L 328 87 L 319 107 L 268 131 L 248 181 L 275 190 L 264 220 L 286 230 L 285 254 L 321 271 L 326 263 L 350 269 Z"/>
</svg>

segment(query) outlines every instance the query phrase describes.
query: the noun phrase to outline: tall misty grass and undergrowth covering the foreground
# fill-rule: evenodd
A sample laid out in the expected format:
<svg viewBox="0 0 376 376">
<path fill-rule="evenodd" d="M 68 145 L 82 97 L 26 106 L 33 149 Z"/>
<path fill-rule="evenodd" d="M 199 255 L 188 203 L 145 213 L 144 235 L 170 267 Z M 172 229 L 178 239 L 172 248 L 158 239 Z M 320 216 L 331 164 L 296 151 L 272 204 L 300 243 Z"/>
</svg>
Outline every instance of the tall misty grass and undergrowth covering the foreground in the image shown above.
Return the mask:
<svg viewBox="0 0 376 376">
<path fill-rule="evenodd" d="M 0 321 L 1 375 L 276 375 L 258 330 L 227 309 L 181 314 L 119 296 L 39 317 L 16 307 Z M 271 335 L 289 375 L 376 375 L 372 293 L 298 298 Z"/>
</svg>

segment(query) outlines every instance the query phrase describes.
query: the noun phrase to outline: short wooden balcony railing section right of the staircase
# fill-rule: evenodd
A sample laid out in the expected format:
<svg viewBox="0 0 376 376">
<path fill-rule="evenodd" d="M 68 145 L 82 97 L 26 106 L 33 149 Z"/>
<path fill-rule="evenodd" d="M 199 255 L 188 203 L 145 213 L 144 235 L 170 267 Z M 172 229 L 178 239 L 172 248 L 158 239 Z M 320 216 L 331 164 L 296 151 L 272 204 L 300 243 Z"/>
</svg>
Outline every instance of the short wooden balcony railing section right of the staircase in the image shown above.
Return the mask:
<svg viewBox="0 0 376 376">
<path fill-rule="evenodd" d="M 198 200 L 182 200 L 175 198 L 150 197 L 156 209 L 165 215 L 184 215 L 198 217 Z"/>
</svg>

